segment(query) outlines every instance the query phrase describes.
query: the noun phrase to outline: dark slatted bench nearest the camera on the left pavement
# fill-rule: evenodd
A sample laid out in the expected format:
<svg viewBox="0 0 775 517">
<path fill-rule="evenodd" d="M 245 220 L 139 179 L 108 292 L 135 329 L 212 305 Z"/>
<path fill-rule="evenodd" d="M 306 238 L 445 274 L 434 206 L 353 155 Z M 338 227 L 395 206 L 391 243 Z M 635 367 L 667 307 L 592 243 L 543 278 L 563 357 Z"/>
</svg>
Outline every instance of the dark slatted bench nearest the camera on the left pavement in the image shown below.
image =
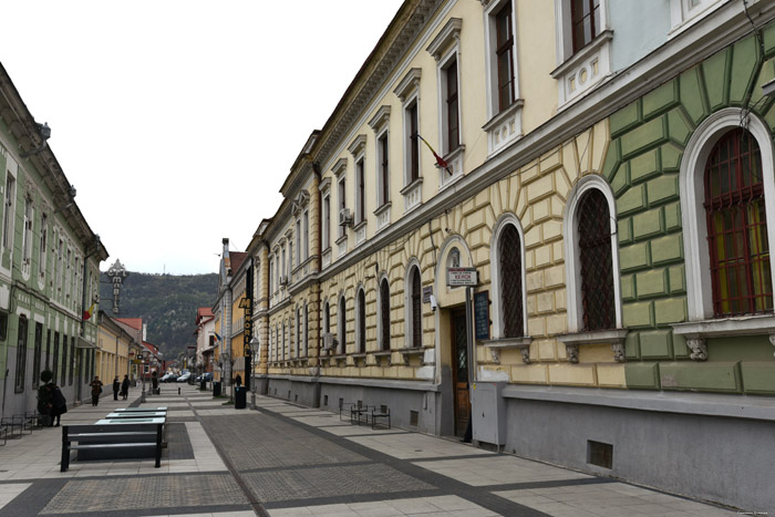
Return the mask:
<svg viewBox="0 0 775 517">
<path fill-rule="evenodd" d="M 137 423 L 63 425 L 60 472 L 68 472 L 72 451 L 79 452 L 79 459 L 154 457 L 159 468 L 163 427 Z"/>
</svg>

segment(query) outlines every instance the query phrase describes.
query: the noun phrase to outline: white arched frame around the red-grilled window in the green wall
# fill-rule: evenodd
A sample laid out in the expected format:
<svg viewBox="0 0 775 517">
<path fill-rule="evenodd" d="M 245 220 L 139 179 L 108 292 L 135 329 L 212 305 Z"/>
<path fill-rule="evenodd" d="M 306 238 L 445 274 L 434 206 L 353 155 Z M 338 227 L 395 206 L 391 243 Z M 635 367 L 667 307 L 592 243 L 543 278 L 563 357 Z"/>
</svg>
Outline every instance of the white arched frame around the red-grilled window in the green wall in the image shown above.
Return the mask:
<svg viewBox="0 0 775 517">
<path fill-rule="evenodd" d="M 690 321 L 713 319 L 711 262 L 707 251 L 704 174 L 713 146 L 728 131 L 740 127 L 741 110 L 727 107 L 713 113 L 694 131 L 683 152 L 680 170 L 681 221 L 686 275 L 686 302 Z M 747 115 L 748 132 L 756 139 L 762 155 L 764 206 L 767 224 L 775 227 L 775 146 L 766 123 L 754 114 Z M 767 231 L 769 249 L 775 249 L 775 228 Z M 769 261 L 775 279 L 775 260 Z M 723 318 L 720 320 L 724 320 Z"/>
</svg>

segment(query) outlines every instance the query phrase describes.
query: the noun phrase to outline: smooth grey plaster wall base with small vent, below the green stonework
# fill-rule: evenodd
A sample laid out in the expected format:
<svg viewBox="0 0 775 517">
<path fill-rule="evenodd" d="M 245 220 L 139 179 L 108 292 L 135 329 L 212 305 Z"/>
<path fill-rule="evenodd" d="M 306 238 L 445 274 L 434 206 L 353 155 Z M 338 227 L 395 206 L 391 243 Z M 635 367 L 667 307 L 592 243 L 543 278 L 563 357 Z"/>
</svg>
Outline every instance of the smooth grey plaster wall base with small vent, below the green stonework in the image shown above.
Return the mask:
<svg viewBox="0 0 775 517">
<path fill-rule="evenodd" d="M 506 452 L 775 513 L 772 422 L 521 399 L 506 403 Z M 613 446 L 611 469 L 588 463 L 588 441 Z"/>
</svg>

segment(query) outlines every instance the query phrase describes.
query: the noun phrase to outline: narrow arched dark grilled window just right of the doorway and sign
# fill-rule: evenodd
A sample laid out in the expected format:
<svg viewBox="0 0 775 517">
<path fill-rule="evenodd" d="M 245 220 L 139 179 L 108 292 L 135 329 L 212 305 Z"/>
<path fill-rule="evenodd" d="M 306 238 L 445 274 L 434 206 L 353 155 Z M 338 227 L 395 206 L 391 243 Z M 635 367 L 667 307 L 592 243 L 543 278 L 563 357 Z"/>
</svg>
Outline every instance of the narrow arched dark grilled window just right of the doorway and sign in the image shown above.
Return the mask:
<svg viewBox="0 0 775 517">
<path fill-rule="evenodd" d="M 504 338 L 525 335 L 523 313 L 523 263 L 519 232 L 514 225 L 504 227 L 498 242 L 500 254 L 500 297 Z"/>
</svg>

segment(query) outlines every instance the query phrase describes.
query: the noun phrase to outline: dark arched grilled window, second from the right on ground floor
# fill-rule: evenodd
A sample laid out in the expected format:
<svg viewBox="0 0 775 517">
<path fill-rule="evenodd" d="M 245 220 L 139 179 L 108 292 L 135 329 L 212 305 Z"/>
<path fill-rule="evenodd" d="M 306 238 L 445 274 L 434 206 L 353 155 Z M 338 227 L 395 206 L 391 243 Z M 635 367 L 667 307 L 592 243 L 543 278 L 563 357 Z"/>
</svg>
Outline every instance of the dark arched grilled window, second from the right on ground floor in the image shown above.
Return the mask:
<svg viewBox="0 0 775 517">
<path fill-rule="evenodd" d="M 613 258 L 608 200 L 597 188 L 579 200 L 577 213 L 583 330 L 616 328 Z"/>
</svg>

